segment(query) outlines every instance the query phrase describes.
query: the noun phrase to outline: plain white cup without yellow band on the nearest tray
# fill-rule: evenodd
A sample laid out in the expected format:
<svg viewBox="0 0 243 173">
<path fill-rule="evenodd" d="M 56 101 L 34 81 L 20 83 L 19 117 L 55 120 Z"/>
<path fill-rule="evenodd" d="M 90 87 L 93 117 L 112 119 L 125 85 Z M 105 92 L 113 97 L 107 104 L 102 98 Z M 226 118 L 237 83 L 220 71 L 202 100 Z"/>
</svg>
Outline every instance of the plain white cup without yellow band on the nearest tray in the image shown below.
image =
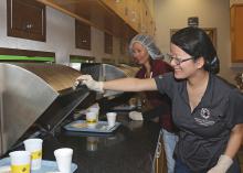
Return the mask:
<svg viewBox="0 0 243 173">
<path fill-rule="evenodd" d="M 59 171 L 62 173 L 71 173 L 71 163 L 73 156 L 73 149 L 61 148 L 54 151 L 55 160 Z"/>
</svg>

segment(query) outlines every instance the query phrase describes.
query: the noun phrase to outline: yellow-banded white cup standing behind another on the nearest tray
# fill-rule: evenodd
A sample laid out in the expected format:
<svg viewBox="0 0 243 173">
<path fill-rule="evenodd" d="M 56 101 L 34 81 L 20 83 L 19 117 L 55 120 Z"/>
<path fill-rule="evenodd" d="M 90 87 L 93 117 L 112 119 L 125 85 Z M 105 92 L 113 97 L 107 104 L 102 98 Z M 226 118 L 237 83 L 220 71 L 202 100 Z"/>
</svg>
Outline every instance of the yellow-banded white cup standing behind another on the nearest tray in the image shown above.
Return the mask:
<svg viewBox="0 0 243 173">
<path fill-rule="evenodd" d="M 23 141 L 27 151 L 31 152 L 31 170 L 41 169 L 42 161 L 42 139 L 33 138 Z"/>
</svg>

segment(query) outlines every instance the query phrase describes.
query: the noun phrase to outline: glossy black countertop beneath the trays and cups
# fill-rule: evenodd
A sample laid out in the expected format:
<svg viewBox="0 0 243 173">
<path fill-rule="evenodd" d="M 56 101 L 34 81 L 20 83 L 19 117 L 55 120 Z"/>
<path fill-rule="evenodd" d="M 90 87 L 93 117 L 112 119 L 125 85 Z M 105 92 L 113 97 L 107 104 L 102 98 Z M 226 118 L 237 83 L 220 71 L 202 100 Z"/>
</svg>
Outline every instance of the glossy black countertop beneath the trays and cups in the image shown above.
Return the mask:
<svg viewBox="0 0 243 173">
<path fill-rule="evenodd" d="M 64 129 L 46 136 L 43 159 L 55 160 L 57 148 L 72 148 L 76 173 L 150 173 L 159 137 L 159 125 L 131 121 L 118 113 L 122 125 L 112 133 L 70 132 Z"/>
</svg>

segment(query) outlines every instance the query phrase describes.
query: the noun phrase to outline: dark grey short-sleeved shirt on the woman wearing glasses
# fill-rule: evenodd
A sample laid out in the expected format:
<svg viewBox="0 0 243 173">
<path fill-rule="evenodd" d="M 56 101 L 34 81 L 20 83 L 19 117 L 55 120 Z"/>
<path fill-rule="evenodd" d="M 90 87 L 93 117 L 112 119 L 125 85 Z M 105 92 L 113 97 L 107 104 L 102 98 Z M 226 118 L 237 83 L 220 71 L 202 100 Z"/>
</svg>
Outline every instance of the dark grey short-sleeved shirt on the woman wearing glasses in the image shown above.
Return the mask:
<svg viewBox="0 0 243 173">
<path fill-rule="evenodd" d="M 172 100 L 173 122 L 180 129 L 176 156 L 191 171 L 207 172 L 225 151 L 231 129 L 243 123 L 243 95 L 210 74 L 207 90 L 191 112 L 186 80 L 176 80 L 172 73 L 155 80 L 158 90 Z"/>
</svg>

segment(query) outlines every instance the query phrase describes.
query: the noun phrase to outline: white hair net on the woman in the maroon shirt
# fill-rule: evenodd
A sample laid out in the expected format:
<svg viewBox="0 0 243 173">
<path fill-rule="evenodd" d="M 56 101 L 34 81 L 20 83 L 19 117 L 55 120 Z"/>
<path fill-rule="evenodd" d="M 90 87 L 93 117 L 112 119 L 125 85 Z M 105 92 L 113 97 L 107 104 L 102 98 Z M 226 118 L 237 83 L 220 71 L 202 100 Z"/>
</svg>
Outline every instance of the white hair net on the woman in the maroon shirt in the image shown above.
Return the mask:
<svg viewBox="0 0 243 173">
<path fill-rule="evenodd" d="M 134 39 L 130 41 L 129 44 L 129 52 L 131 55 L 133 55 L 134 43 L 140 43 L 148 51 L 148 54 L 154 60 L 163 57 L 163 55 L 156 46 L 155 41 L 150 35 L 137 34 L 136 36 L 134 36 Z"/>
</svg>

